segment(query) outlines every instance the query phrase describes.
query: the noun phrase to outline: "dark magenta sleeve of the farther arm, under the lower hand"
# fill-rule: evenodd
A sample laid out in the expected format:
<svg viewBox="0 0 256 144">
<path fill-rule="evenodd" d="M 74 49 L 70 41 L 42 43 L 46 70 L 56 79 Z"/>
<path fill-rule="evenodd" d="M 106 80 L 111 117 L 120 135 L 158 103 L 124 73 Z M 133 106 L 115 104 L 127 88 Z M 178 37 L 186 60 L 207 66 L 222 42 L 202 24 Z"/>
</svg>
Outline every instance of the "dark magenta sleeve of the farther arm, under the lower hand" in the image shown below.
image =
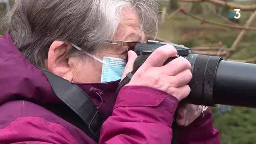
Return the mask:
<svg viewBox="0 0 256 144">
<path fill-rule="evenodd" d="M 212 113 L 198 117 L 193 123 L 179 128 L 178 144 L 221 144 L 219 131 L 213 128 Z"/>
</svg>

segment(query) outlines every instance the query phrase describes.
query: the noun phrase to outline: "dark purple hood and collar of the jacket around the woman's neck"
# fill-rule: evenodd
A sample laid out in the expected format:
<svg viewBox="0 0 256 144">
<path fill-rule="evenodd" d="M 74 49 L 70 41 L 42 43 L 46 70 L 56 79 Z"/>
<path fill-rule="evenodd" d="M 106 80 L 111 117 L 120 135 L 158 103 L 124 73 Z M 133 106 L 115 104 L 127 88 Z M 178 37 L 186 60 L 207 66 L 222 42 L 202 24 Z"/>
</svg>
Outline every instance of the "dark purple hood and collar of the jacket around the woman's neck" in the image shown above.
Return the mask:
<svg viewBox="0 0 256 144">
<path fill-rule="evenodd" d="M 0 36 L 0 105 L 16 99 L 25 99 L 39 104 L 61 104 L 62 102 L 53 92 L 45 75 L 27 61 L 16 48 L 9 32 L 10 30 L 5 33 L 5 36 Z M 103 101 L 109 101 L 112 107 L 115 104 L 115 91 L 118 83 L 119 80 L 102 84 L 75 84 L 92 99 L 96 97 L 95 92 L 100 91 L 101 96 L 104 95 Z M 111 94 L 106 100 L 109 93 L 114 95 Z M 93 99 L 94 103 L 98 103 L 97 101 L 98 99 Z M 108 111 L 112 110 L 111 107 Z"/>
</svg>

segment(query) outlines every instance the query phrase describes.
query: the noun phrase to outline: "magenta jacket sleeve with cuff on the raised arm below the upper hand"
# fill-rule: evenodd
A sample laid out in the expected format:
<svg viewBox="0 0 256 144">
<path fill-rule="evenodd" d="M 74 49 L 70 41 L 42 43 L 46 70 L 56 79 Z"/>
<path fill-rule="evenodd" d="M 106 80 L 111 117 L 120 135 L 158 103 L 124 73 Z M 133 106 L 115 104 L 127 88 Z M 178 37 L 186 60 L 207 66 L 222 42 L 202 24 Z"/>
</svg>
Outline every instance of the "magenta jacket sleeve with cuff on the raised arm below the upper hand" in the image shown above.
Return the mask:
<svg viewBox="0 0 256 144">
<path fill-rule="evenodd" d="M 125 86 L 102 125 L 99 144 L 170 144 L 178 99 L 157 89 Z"/>
</svg>

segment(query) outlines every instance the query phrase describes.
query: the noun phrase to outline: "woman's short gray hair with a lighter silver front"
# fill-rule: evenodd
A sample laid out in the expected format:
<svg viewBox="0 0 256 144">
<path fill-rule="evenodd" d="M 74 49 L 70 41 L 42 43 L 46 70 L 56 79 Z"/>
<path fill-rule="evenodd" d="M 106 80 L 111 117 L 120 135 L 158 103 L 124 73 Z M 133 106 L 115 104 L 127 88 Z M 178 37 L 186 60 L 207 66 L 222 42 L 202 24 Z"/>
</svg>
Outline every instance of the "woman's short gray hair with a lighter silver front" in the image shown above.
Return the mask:
<svg viewBox="0 0 256 144">
<path fill-rule="evenodd" d="M 126 6 L 139 13 L 145 34 L 155 37 L 155 0 L 16 0 L 8 24 L 15 45 L 28 61 L 43 69 L 54 40 L 96 52 L 99 45 L 113 39 Z M 70 54 L 81 53 L 73 48 Z"/>
</svg>

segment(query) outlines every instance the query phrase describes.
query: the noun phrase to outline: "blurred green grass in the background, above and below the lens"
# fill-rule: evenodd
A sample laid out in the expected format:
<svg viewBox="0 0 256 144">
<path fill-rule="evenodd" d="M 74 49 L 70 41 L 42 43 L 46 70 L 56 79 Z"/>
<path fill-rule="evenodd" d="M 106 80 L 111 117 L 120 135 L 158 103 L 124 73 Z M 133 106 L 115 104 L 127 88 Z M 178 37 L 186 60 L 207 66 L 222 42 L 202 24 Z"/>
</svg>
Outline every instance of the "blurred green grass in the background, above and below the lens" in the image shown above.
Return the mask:
<svg viewBox="0 0 256 144">
<path fill-rule="evenodd" d="M 183 5 L 184 3 L 180 4 Z M 163 6 L 166 3 L 160 3 L 160 5 Z M 207 3 L 207 5 L 213 6 L 210 3 Z M 251 13 L 241 12 L 240 25 L 245 24 Z M 208 11 L 201 17 L 210 21 L 223 22 Z M 256 20 L 253 21 L 252 26 L 256 27 Z M 2 28 L 0 34 L 4 34 L 5 29 Z M 172 19 L 160 25 L 158 36 L 187 47 L 218 46 L 219 41 L 222 41 L 229 48 L 239 32 L 240 30 L 200 24 L 200 21 L 189 18 L 183 13 L 178 13 Z M 238 45 L 239 48 L 245 49 L 233 55 L 232 59 L 251 58 L 252 53 L 256 53 L 255 37 L 256 32 L 247 32 L 240 45 Z M 215 108 L 211 109 L 214 126 L 221 133 L 222 144 L 256 144 L 256 109 L 232 107 L 231 113 L 222 114 L 221 116 L 216 115 Z"/>
</svg>

